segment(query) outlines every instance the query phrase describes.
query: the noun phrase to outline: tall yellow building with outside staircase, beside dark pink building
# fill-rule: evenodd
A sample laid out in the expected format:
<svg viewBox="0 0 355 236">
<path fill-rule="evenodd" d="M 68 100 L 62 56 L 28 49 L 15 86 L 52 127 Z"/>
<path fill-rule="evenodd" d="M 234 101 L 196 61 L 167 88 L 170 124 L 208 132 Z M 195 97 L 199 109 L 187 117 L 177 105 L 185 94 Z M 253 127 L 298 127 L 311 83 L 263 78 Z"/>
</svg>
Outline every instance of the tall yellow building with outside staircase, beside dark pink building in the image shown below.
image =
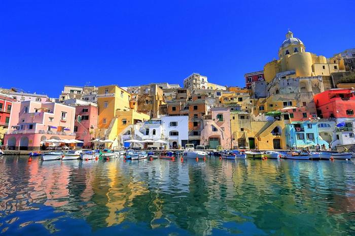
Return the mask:
<svg viewBox="0 0 355 236">
<path fill-rule="evenodd" d="M 134 106 L 130 104 L 130 99 L 131 94 L 117 85 L 98 87 L 98 128 L 101 139 L 117 140 L 126 125 L 150 119 L 149 115 L 131 109 Z"/>
</svg>

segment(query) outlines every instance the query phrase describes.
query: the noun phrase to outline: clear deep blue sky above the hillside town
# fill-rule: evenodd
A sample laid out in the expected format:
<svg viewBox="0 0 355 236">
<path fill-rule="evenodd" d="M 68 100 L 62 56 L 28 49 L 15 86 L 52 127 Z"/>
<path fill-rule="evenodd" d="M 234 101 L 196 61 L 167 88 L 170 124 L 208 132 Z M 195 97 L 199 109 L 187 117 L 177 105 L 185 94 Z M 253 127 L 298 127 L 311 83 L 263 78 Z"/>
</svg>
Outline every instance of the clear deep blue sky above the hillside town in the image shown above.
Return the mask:
<svg viewBox="0 0 355 236">
<path fill-rule="evenodd" d="M 355 47 L 353 1 L 247 2 L 2 0 L 0 87 L 58 97 L 65 84 L 182 85 L 194 72 L 244 86 L 288 28 L 326 57 Z"/>
</svg>

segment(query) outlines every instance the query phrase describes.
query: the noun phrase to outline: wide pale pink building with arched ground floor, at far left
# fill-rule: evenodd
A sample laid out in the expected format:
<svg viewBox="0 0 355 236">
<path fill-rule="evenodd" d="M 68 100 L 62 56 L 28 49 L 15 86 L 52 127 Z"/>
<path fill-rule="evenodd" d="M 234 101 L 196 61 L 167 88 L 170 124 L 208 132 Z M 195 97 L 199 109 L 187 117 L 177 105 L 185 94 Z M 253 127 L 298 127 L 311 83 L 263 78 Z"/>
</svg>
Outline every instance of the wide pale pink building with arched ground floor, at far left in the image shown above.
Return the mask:
<svg viewBox="0 0 355 236">
<path fill-rule="evenodd" d="M 4 145 L 12 150 L 40 150 L 42 141 L 75 139 L 75 108 L 57 103 L 13 103 Z"/>
</svg>

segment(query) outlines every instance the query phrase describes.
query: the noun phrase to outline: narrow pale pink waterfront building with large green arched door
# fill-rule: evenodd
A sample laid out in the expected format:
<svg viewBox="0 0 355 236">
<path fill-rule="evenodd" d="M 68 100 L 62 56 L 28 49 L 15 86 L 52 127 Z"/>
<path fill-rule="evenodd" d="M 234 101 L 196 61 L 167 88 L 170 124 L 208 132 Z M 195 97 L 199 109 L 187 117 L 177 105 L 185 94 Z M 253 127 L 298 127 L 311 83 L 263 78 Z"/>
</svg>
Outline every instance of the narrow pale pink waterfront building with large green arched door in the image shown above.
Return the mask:
<svg viewBox="0 0 355 236">
<path fill-rule="evenodd" d="M 231 148 L 231 123 L 229 108 L 211 108 L 211 115 L 205 116 L 201 131 L 201 145 L 216 149 Z"/>
</svg>

